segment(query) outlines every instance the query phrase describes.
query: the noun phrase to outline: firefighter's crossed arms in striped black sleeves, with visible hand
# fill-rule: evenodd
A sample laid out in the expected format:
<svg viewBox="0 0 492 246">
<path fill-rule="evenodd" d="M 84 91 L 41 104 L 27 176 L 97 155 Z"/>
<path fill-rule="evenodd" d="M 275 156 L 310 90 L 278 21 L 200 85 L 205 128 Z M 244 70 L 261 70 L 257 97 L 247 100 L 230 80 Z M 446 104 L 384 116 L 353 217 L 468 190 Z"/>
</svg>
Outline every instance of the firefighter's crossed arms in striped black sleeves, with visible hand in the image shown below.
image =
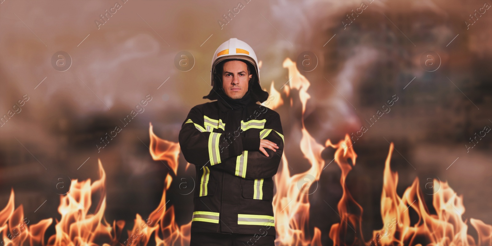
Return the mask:
<svg viewBox="0 0 492 246">
<path fill-rule="evenodd" d="M 277 173 L 284 146 L 277 113 L 266 121 L 257 138 L 226 138 L 226 134 L 208 132 L 202 126 L 203 113 L 193 107 L 179 133 L 181 150 L 189 163 L 247 179 L 267 178 Z"/>
</svg>

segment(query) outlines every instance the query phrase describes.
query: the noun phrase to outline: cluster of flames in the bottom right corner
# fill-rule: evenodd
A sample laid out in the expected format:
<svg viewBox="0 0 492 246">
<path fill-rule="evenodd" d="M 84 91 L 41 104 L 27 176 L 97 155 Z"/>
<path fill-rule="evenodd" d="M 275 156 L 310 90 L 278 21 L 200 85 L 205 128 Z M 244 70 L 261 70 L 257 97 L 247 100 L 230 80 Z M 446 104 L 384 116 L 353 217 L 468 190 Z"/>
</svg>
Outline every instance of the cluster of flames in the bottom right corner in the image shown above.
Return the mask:
<svg viewBox="0 0 492 246">
<path fill-rule="evenodd" d="M 433 180 L 432 205 L 437 214 L 430 214 L 415 178 L 400 198 L 396 192 L 398 173 L 390 168 L 394 144 L 390 144 L 384 168 L 383 192 L 381 194 L 381 216 L 385 228 L 373 232 L 372 245 L 462 245 L 476 246 L 492 243 L 492 226 L 478 219 L 470 219 L 477 230 L 478 243 L 467 234 L 468 220 L 463 217 L 465 208 L 462 196 L 449 187 L 448 182 Z M 410 224 L 409 211 L 414 210 L 419 220 Z M 422 242 L 421 242 L 422 241 Z"/>
</svg>

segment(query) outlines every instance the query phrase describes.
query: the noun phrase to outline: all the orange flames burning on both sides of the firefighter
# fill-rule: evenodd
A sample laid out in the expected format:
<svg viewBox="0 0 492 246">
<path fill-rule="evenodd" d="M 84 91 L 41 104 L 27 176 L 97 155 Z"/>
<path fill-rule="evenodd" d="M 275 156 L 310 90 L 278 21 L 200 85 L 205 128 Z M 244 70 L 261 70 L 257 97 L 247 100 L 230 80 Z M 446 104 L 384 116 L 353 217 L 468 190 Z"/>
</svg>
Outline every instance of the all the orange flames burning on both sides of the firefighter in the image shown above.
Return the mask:
<svg viewBox="0 0 492 246">
<path fill-rule="evenodd" d="M 302 105 L 300 129 L 302 138 L 299 146 L 311 165 L 300 174 L 290 174 L 286 157 L 282 158 L 281 168 L 274 176 L 276 194 L 273 199 L 275 227 L 277 230 L 277 246 L 321 246 L 321 231 L 314 227 L 310 236 L 309 222 L 309 191 L 311 184 L 316 182 L 325 167 L 321 152 L 325 148 L 334 148 L 334 161 L 341 169 L 340 184 L 343 195 L 338 202 L 340 222 L 332 225 L 329 232 L 334 245 L 429 245 L 429 246 L 486 246 L 492 245 L 492 226 L 479 219 L 469 221 L 463 217 L 465 211 L 462 196 L 458 196 L 447 182 L 433 180 L 433 207 L 437 214 L 430 214 L 419 189 L 418 178 L 400 197 L 397 192 L 398 173 L 392 172 L 390 160 L 393 143 L 385 162 L 384 183 L 381 194 L 381 215 L 384 227 L 373 231 L 372 238 L 365 241 L 362 236 L 362 207 L 353 199 L 346 185 L 348 173 L 355 167 L 357 154 L 348 135 L 338 143 L 327 140 L 324 144 L 317 143 L 304 126 L 304 113 L 310 95 L 307 89 L 309 81 L 296 68 L 290 59 L 285 59 L 283 67 L 289 71 L 289 84 L 284 85 L 283 96 L 290 98 L 297 90 Z M 270 88 L 273 101 L 269 108 L 275 109 L 284 104 L 280 92 L 275 90 L 274 83 Z M 170 170 L 177 174 L 180 154 L 179 143 L 158 138 L 149 125 L 150 154 L 154 160 L 166 161 Z M 290 141 L 292 142 L 292 141 Z M 186 168 L 190 164 L 186 164 Z M 175 221 L 174 207 L 166 207 L 166 191 L 169 189 L 172 176 L 168 174 L 164 181 L 164 192 L 160 204 L 145 218 L 136 214 L 132 230 L 128 230 L 128 238 L 122 238 L 123 220 L 109 224 L 104 218 L 106 209 L 106 174 L 102 163 L 98 160 L 98 180 L 78 181 L 74 179 L 70 191 L 61 195 L 60 221 L 55 220 L 56 234 L 51 235 L 47 243 L 44 236 L 47 228 L 53 223 L 52 218 L 43 219 L 38 223 L 30 223 L 24 217 L 23 206 L 15 209 L 14 191 L 3 210 L 0 211 L 0 232 L 4 246 L 47 245 L 47 246 L 145 246 L 155 241 L 158 246 L 189 245 L 191 221 L 179 226 Z M 92 194 L 100 194 L 96 206 L 92 206 Z M 415 211 L 419 220 L 410 223 L 409 211 Z M 26 221 L 27 220 L 27 221 Z M 467 234 L 468 224 L 477 230 L 478 242 Z M 353 232 L 352 232 L 353 231 Z M 154 244 L 154 242 L 152 242 Z"/>
</svg>

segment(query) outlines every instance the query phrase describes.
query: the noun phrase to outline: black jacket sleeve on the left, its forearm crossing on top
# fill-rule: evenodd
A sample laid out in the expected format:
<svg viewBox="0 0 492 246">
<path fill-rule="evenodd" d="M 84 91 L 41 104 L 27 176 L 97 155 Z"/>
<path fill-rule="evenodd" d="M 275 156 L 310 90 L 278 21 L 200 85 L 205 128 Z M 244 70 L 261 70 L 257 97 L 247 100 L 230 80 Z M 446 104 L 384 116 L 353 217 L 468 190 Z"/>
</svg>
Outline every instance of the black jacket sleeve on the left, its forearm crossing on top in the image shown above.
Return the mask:
<svg viewBox="0 0 492 246">
<path fill-rule="evenodd" d="M 181 126 L 179 143 L 184 159 L 196 166 L 214 166 L 223 160 L 243 152 L 243 140 L 227 140 L 221 133 L 204 128 L 202 110 L 194 106 Z"/>
</svg>

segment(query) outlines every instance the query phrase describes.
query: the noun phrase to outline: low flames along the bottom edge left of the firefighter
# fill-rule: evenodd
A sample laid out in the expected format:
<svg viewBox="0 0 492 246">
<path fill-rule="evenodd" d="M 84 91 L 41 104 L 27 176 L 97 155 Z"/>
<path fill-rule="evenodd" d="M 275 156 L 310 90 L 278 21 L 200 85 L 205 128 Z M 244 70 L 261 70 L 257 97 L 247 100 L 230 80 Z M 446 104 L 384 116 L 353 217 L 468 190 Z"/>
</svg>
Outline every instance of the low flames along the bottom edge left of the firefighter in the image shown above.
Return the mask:
<svg viewBox="0 0 492 246">
<path fill-rule="evenodd" d="M 172 156 L 171 153 L 161 154 L 158 156 Z M 0 211 L 0 232 L 3 235 L 2 245 L 147 245 L 152 234 L 154 234 L 157 246 L 189 244 L 191 221 L 179 227 L 174 221 L 174 208 L 171 206 L 170 209 L 166 209 L 166 190 L 169 189 L 172 181 L 170 175 L 165 179 L 165 190 L 159 207 L 147 219 L 142 219 L 137 213 L 133 229 L 128 231 L 128 239 L 123 242 L 124 239 L 121 236 L 125 224 L 124 221 L 113 221 L 113 224 L 109 224 L 104 218 L 106 209 L 106 174 L 100 160 L 98 160 L 98 165 L 100 176 L 98 180 L 91 183 L 91 179 L 84 181 L 74 179 L 69 192 L 60 197 L 58 212 L 61 214 L 61 219 L 60 221 L 56 220 L 56 234 L 48 239 L 47 244 L 44 244 L 44 234 L 53 219 L 44 219 L 36 224 L 30 224 L 29 219 L 24 218 L 22 205 L 14 210 L 14 191 L 12 190 L 7 206 Z M 172 163 L 169 163 L 169 165 L 172 166 Z M 91 212 L 91 196 L 94 193 L 100 193 L 101 199 L 95 206 L 94 211 Z"/>
</svg>

